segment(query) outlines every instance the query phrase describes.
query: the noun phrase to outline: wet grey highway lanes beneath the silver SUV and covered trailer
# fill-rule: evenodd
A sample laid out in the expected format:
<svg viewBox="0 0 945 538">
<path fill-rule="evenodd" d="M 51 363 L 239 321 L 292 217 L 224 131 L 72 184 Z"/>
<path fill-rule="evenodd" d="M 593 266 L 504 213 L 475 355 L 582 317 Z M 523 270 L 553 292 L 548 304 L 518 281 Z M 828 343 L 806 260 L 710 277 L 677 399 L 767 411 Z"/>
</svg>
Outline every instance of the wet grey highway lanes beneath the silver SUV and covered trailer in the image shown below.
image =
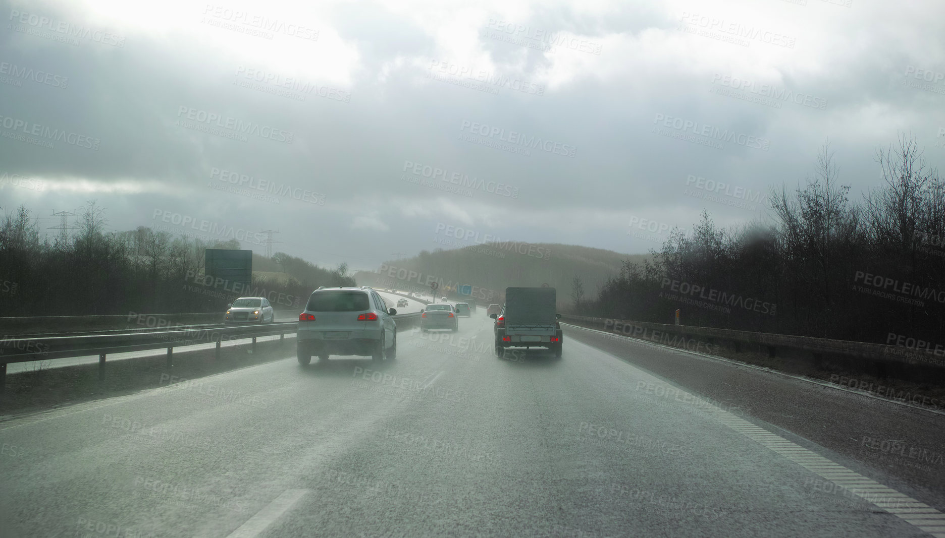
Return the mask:
<svg viewBox="0 0 945 538">
<path fill-rule="evenodd" d="M 902 510 L 882 473 L 699 404 L 575 330 L 560 360 L 501 360 L 480 311 L 457 333 L 400 332 L 395 361 L 286 357 L 0 423 L 15 499 L 0 520 L 12 536 L 929 535 L 827 487 L 875 480 Z"/>
</svg>

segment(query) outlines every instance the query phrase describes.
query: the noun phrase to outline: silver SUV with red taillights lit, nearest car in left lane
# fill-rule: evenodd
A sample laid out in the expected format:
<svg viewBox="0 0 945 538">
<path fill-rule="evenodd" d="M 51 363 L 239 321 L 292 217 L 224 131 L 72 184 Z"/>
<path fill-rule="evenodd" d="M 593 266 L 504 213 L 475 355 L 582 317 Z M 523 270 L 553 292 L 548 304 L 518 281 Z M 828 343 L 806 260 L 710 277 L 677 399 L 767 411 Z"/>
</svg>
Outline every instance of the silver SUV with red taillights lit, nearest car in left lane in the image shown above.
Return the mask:
<svg viewBox="0 0 945 538">
<path fill-rule="evenodd" d="M 306 365 L 317 355 L 370 356 L 374 361 L 397 356 L 397 323 L 380 294 L 368 286 L 318 288 L 299 314 L 296 349 Z"/>
</svg>

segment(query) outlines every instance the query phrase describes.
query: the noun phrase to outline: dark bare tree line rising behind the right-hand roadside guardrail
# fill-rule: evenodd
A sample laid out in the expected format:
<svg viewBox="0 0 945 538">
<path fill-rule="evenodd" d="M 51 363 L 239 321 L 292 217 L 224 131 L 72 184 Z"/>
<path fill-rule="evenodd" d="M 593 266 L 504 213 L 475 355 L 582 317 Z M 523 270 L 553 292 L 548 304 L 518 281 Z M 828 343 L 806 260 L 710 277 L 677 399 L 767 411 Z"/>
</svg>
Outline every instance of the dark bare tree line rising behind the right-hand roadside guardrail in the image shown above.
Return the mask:
<svg viewBox="0 0 945 538">
<path fill-rule="evenodd" d="M 773 190 L 772 217 L 722 229 L 708 211 L 673 230 L 653 261 L 621 273 L 576 310 L 599 317 L 945 345 L 945 180 L 911 136 L 876 153 L 883 182 L 851 200 L 830 144 L 806 185 Z"/>
</svg>

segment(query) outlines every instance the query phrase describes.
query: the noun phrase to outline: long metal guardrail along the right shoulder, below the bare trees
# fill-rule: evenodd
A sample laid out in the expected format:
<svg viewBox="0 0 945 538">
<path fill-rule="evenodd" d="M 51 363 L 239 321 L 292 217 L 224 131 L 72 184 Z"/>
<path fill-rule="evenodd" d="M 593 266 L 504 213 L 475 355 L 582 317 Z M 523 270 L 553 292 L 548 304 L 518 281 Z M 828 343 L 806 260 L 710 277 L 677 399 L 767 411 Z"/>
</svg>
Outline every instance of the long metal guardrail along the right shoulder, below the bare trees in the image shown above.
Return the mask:
<svg viewBox="0 0 945 538">
<path fill-rule="evenodd" d="M 766 348 L 769 357 L 776 357 L 779 349 L 792 349 L 812 354 L 815 361 L 821 361 L 824 356 L 831 355 L 859 360 L 866 359 L 878 363 L 916 364 L 922 362 L 937 368 L 945 367 L 945 357 L 941 355 L 899 345 L 870 344 L 866 342 L 851 342 L 849 340 L 831 340 L 827 338 L 774 334 L 769 332 L 750 332 L 747 330 L 732 330 L 728 328 L 669 325 L 572 314 L 562 314 L 561 319 L 562 321 L 571 319 L 597 326 L 608 332 L 642 338 L 643 340 L 654 340 L 654 332 L 660 331 L 681 336 L 686 339 L 701 338 L 708 341 L 709 344 L 714 344 L 715 340 L 728 341 L 735 345 L 737 351 L 741 350 L 740 345 L 758 345 Z M 647 334 L 649 336 L 646 336 Z M 659 339 L 660 337 L 656 338 Z"/>
</svg>

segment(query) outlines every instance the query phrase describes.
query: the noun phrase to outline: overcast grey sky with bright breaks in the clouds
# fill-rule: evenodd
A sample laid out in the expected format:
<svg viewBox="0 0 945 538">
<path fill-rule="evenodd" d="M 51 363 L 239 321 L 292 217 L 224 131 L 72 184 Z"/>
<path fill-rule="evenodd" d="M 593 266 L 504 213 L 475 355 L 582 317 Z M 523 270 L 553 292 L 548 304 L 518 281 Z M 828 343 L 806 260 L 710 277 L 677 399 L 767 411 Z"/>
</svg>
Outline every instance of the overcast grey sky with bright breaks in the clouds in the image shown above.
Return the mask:
<svg viewBox="0 0 945 538">
<path fill-rule="evenodd" d="M 371 269 L 765 220 L 828 139 L 855 199 L 897 132 L 945 157 L 938 1 L 144 4 L 0 2 L 4 211 Z"/>
</svg>

